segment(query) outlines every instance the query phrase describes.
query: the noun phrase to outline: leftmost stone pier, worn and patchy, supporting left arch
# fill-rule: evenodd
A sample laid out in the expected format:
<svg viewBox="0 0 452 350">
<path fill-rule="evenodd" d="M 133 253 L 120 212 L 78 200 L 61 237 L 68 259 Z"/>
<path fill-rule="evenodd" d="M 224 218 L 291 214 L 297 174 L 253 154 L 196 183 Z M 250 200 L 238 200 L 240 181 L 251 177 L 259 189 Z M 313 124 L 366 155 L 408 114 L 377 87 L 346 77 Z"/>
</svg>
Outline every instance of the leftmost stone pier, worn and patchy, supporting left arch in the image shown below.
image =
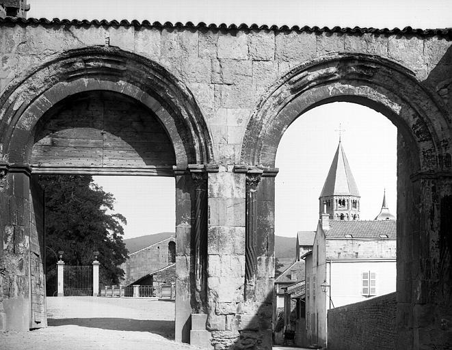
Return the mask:
<svg viewBox="0 0 452 350">
<path fill-rule="evenodd" d="M 27 165 L 0 164 L 0 318 L 3 329 L 21 332 L 31 326 L 30 175 Z"/>
</svg>

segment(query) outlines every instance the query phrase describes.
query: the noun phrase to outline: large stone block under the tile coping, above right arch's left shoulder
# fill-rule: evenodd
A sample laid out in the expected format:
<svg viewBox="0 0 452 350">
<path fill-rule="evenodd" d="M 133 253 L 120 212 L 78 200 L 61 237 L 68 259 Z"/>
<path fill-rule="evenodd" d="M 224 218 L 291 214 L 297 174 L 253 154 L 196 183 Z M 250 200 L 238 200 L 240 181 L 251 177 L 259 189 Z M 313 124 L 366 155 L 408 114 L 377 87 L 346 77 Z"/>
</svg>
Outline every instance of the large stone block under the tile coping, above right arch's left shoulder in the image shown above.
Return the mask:
<svg viewBox="0 0 452 350">
<path fill-rule="evenodd" d="M 315 33 L 280 31 L 276 33 L 276 59 L 282 61 L 306 61 L 315 57 L 317 39 Z"/>
</svg>

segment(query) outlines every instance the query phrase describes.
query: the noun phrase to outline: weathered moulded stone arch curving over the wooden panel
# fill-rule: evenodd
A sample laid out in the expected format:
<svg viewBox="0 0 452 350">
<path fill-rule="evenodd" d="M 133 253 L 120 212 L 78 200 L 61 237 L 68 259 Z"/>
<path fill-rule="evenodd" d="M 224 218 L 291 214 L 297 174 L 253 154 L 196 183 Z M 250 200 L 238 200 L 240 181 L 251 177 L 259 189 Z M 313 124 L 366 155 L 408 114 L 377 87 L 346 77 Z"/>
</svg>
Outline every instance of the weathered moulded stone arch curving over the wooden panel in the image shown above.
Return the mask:
<svg viewBox="0 0 452 350">
<path fill-rule="evenodd" d="M 44 113 L 68 96 L 94 90 L 124 94 L 155 113 L 178 167 L 212 161 L 209 130 L 188 88 L 149 59 L 98 46 L 52 57 L 6 90 L 0 100 L 3 161 L 28 163 L 30 135 Z"/>
</svg>

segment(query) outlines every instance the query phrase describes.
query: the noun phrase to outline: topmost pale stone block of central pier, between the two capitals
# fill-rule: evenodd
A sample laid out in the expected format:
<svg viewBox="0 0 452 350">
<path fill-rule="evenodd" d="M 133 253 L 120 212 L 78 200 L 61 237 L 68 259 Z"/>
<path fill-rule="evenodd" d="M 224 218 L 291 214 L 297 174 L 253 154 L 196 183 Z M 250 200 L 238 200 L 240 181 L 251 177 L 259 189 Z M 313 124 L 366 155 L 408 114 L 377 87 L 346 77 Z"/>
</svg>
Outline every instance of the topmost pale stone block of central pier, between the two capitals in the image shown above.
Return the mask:
<svg viewBox="0 0 452 350">
<path fill-rule="evenodd" d="M 232 172 L 209 173 L 209 198 L 245 198 L 245 175 Z"/>
</svg>

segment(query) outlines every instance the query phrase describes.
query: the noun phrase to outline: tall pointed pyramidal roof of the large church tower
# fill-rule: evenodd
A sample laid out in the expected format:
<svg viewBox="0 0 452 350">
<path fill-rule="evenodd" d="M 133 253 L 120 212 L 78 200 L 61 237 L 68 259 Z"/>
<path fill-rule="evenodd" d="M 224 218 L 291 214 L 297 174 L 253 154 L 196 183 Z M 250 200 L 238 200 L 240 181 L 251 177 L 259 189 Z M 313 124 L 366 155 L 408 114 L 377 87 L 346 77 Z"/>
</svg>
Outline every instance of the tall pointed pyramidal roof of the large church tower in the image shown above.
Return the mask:
<svg viewBox="0 0 452 350">
<path fill-rule="evenodd" d="M 320 194 L 320 197 L 328 196 L 360 196 L 341 141 L 337 146 L 330 171 Z"/>
</svg>

